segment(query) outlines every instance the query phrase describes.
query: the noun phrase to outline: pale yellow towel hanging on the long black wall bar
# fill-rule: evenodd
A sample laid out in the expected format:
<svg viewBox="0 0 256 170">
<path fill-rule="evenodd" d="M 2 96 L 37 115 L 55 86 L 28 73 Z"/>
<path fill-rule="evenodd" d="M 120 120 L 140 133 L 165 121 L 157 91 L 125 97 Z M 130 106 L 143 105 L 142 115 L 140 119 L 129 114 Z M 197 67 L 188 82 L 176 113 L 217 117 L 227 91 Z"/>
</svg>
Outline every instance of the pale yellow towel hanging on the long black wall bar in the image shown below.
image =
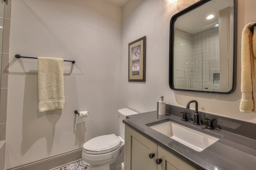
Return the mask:
<svg viewBox="0 0 256 170">
<path fill-rule="evenodd" d="M 38 57 L 38 111 L 63 109 L 63 59 Z"/>
</svg>

